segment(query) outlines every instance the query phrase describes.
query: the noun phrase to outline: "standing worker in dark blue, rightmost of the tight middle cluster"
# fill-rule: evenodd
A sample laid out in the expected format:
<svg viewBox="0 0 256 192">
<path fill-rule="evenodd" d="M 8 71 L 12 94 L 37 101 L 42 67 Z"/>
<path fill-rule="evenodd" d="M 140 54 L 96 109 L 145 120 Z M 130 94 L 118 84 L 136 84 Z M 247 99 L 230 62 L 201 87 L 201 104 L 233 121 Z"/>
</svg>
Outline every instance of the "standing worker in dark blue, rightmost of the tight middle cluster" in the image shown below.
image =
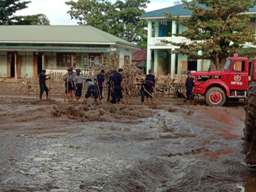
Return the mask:
<svg viewBox="0 0 256 192">
<path fill-rule="evenodd" d="M 122 88 L 124 87 L 124 82 L 122 81 L 123 72 L 123 69 L 119 69 L 118 73 L 115 73 L 113 76 L 111 90 L 114 92 L 114 103 L 122 102 Z"/>
</svg>

